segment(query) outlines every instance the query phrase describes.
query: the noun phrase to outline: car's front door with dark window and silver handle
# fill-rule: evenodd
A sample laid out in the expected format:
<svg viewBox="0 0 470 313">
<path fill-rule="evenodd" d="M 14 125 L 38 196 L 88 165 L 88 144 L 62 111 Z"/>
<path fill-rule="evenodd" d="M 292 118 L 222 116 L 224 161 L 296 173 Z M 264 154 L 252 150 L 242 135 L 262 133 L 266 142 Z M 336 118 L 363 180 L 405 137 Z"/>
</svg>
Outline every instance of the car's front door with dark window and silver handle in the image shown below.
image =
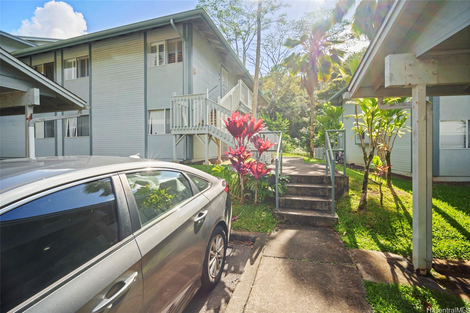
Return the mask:
<svg viewBox="0 0 470 313">
<path fill-rule="evenodd" d="M 141 254 L 117 174 L 0 214 L 2 312 L 142 312 Z"/>
</svg>

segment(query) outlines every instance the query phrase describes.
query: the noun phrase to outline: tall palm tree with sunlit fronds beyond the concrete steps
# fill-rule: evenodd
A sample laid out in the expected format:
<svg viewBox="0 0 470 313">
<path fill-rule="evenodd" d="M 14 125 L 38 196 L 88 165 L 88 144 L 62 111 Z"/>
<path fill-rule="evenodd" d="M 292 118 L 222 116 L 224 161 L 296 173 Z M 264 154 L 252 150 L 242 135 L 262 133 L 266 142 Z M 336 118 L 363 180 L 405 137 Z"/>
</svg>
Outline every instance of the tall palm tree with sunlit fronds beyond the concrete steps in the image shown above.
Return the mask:
<svg viewBox="0 0 470 313">
<path fill-rule="evenodd" d="M 335 49 L 334 45 L 342 43 L 330 39 L 335 35 L 329 33 L 330 21 L 318 21 L 313 24 L 309 34 L 300 36 L 300 39 L 286 39 L 286 47 L 301 47 L 300 51 L 293 52 L 284 59 L 284 65 L 290 69 L 290 75 L 300 74 L 302 88 L 305 88 L 310 97 L 310 157 L 313 157 L 313 140 L 315 137 L 315 90 L 320 82 L 328 82 L 331 78 L 333 65 L 341 65 L 341 58 L 345 52 Z"/>
</svg>

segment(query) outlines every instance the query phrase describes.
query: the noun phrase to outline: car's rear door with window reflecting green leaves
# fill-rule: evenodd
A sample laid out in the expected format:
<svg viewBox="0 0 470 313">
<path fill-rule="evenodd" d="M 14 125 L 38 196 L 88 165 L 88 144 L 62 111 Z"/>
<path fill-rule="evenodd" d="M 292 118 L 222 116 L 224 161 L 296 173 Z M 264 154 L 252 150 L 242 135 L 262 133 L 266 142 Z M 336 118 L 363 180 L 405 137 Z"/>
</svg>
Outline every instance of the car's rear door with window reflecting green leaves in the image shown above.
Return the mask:
<svg viewBox="0 0 470 313">
<path fill-rule="evenodd" d="M 196 291 L 209 236 L 209 200 L 186 174 L 146 170 L 121 174 L 142 254 L 144 312 L 172 312 Z"/>
</svg>

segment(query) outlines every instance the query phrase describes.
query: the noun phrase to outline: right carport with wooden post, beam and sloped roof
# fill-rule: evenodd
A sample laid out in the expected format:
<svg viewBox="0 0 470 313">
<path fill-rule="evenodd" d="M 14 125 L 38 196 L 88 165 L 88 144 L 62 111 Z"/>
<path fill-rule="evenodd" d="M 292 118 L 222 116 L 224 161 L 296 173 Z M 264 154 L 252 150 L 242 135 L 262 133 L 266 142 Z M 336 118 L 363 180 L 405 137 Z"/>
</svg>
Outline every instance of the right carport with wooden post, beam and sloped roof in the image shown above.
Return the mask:
<svg viewBox="0 0 470 313">
<path fill-rule="evenodd" d="M 412 97 L 394 107 L 412 109 L 413 265 L 419 274 L 432 266 L 432 106 L 426 97 L 468 94 L 470 1 L 412 0 L 393 3 L 343 94 L 379 103 Z"/>
</svg>

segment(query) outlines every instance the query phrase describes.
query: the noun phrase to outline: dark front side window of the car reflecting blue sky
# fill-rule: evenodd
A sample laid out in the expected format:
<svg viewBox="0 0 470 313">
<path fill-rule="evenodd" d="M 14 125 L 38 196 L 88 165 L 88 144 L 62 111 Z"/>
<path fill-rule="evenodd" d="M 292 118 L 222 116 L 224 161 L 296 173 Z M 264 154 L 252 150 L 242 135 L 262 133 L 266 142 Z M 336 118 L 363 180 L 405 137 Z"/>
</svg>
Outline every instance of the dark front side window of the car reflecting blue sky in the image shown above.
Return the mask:
<svg viewBox="0 0 470 313">
<path fill-rule="evenodd" d="M 6 312 L 118 242 L 109 178 L 63 189 L 0 216 L 0 311 Z"/>
</svg>

